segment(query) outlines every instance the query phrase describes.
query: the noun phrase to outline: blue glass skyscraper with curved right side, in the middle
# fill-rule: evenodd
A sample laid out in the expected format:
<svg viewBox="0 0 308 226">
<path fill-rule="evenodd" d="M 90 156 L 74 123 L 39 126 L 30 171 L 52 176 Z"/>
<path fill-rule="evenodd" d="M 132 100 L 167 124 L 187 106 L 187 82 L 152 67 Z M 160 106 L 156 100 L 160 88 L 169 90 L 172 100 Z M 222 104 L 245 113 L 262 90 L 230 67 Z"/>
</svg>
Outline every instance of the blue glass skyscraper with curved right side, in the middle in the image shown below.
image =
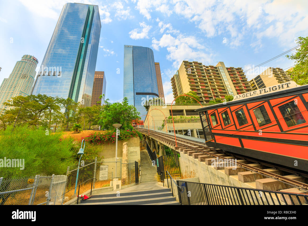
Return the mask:
<svg viewBox="0 0 308 226">
<path fill-rule="evenodd" d="M 124 46 L 124 97 L 140 116 L 146 115 L 144 103 L 157 98 L 158 88 L 153 50 L 142 46 Z M 144 120 L 145 116 L 141 117 Z"/>
</svg>

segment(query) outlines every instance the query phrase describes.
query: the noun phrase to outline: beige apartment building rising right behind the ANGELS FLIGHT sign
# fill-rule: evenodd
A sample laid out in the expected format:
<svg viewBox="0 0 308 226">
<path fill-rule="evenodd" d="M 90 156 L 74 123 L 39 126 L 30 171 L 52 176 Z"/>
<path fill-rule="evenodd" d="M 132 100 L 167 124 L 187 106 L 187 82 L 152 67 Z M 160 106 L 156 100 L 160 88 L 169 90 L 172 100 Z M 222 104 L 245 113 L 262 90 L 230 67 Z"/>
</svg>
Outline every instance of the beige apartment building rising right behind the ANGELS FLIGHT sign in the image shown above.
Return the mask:
<svg viewBox="0 0 308 226">
<path fill-rule="evenodd" d="M 257 90 L 287 81 L 292 81 L 290 73 L 281 68 L 269 67 L 250 80 L 250 85 L 253 90 Z"/>
</svg>

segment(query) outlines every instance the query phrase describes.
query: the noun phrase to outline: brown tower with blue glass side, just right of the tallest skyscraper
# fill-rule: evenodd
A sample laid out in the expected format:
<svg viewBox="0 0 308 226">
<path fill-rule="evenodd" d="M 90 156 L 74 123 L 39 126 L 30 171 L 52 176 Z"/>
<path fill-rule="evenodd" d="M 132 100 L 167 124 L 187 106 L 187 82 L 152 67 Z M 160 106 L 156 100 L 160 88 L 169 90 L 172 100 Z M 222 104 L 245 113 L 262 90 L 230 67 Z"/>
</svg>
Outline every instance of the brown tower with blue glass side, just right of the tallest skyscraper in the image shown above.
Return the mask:
<svg viewBox="0 0 308 226">
<path fill-rule="evenodd" d="M 100 99 L 99 96 L 103 95 L 103 98 Z M 97 102 L 101 101 L 100 105 L 104 104 L 106 95 L 106 77 L 103 71 L 95 71 L 94 74 L 94 82 L 92 89 L 92 99 L 91 99 L 91 107 L 93 105 L 98 105 Z"/>
</svg>

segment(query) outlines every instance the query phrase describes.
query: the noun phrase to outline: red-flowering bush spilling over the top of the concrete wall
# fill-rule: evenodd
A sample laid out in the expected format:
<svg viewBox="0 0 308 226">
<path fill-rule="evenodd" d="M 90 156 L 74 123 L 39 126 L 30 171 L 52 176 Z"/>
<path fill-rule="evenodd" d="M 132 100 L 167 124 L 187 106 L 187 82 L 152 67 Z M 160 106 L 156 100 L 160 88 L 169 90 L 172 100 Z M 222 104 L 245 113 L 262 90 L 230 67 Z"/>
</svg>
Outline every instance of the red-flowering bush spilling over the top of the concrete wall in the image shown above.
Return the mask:
<svg viewBox="0 0 308 226">
<path fill-rule="evenodd" d="M 120 130 L 120 135 L 118 135 L 119 141 L 125 141 L 132 137 L 140 137 L 142 136 L 137 131 L 129 131 L 129 130 Z M 86 142 L 90 144 L 101 144 L 104 141 L 111 141 L 114 143 L 116 141 L 116 133 L 112 130 L 107 130 L 103 132 L 95 132 L 91 133 L 86 137 L 82 137 L 80 140 L 84 139 Z"/>
</svg>

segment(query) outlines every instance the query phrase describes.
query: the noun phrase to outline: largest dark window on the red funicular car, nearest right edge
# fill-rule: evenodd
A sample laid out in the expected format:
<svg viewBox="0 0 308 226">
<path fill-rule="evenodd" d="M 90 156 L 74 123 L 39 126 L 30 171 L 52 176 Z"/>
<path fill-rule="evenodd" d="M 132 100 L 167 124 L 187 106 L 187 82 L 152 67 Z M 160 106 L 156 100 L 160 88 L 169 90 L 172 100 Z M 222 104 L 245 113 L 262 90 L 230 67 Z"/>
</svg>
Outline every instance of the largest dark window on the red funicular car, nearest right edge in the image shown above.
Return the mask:
<svg viewBox="0 0 308 226">
<path fill-rule="evenodd" d="M 283 119 L 285 120 L 288 127 L 299 125 L 305 123 L 302 113 L 300 112 L 298 106 L 291 101 L 287 104 L 278 107 L 279 111 L 282 114 Z"/>
</svg>

